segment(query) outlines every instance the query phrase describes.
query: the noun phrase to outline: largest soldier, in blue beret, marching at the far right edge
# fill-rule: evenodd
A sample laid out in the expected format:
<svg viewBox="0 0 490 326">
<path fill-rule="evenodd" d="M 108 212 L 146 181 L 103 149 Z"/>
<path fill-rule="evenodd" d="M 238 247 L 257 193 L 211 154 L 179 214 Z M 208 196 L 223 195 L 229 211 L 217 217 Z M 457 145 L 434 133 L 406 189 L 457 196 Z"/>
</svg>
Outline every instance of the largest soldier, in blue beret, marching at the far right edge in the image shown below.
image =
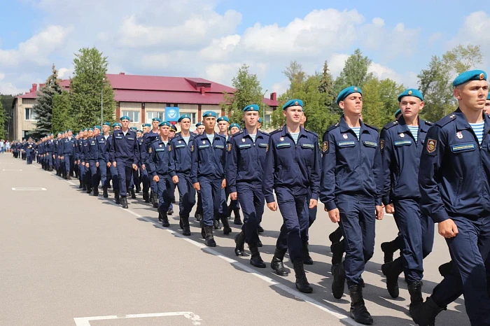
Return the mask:
<svg viewBox="0 0 490 326">
<path fill-rule="evenodd" d="M 421 209 L 438 223 L 453 269 L 412 313 L 418 325 L 461 294 L 471 325 L 490 325 L 484 262 L 490 246 L 490 118 L 482 113 L 489 95 L 486 73 L 466 71 L 453 81 L 458 109 L 435 122 L 421 154 Z"/>
</svg>

